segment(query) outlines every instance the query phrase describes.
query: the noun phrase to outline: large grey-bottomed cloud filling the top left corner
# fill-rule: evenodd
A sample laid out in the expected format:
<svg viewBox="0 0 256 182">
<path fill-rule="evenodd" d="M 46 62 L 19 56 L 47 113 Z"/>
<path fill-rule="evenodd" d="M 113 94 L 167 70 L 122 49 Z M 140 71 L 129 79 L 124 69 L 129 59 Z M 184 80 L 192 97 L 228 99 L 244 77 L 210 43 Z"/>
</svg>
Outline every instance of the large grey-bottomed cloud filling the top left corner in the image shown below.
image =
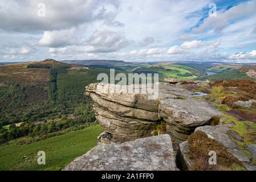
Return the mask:
<svg viewBox="0 0 256 182">
<path fill-rule="evenodd" d="M 46 6 L 45 17 L 38 16 L 38 3 L 44 3 Z M 39 32 L 79 26 L 92 22 L 96 16 L 95 10 L 105 4 L 118 6 L 115 0 L 1 0 L 0 28 L 19 32 Z M 111 18 L 114 19 L 115 15 Z M 101 18 L 104 19 L 103 16 Z"/>
</svg>

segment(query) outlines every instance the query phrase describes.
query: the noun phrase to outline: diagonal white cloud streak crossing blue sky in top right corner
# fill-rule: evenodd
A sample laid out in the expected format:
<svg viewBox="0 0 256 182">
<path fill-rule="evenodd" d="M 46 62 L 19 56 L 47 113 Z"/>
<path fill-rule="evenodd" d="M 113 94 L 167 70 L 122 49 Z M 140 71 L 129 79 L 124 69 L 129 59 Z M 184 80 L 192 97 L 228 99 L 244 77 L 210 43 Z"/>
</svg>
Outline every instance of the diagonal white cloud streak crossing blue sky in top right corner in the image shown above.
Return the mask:
<svg viewBox="0 0 256 182">
<path fill-rule="evenodd" d="M 243 18 L 246 16 L 251 16 L 256 14 L 256 2 L 246 2 L 241 3 L 237 6 L 231 7 L 229 10 L 225 12 L 217 12 L 217 16 L 208 16 L 208 18 L 204 19 L 204 22 L 200 24 L 199 27 L 193 28 L 192 32 L 199 34 L 204 32 L 209 28 L 214 28 L 215 32 L 222 31 L 227 24 L 235 19 Z"/>
</svg>

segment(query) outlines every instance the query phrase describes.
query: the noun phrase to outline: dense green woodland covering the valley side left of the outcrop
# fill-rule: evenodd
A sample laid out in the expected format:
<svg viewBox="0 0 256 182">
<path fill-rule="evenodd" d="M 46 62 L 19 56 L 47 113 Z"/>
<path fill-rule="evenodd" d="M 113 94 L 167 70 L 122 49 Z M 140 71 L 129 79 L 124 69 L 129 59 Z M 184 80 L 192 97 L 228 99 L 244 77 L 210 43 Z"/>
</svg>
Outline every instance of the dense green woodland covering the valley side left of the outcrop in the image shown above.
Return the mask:
<svg viewBox="0 0 256 182">
<path fill-rule="evenodd" d="M 103 70 L 49 69 L 48 90 L 18 83 L 0 87 L 0 143 L 95 122 L 92 100 L 84 92 L 86 85 L 96 82 L 96 76 Z M 31 95 L 31 92 L 36 93 Z"/>
</svg>

